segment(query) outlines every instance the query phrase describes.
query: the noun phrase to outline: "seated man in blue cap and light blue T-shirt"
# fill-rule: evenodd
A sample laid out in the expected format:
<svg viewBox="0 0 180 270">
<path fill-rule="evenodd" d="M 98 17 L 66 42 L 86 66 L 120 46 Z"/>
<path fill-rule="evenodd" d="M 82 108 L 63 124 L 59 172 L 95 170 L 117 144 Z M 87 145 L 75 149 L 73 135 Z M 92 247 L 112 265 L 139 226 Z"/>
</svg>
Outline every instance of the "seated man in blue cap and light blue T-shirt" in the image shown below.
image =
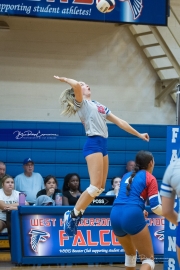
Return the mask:
<svg viewBox="0 0 180 270">
<path fill-rule="evenodd" d="M 34 161 L 26 158 L 23 162 L 24 173 L 17 175 L 14 179 L 15 189 L 26 194 L 26 200 L 30 205 L 36 201 L 36 194 L 44 188 L 44 181 L 39 173 L 34 171 Z"/>
</svg>

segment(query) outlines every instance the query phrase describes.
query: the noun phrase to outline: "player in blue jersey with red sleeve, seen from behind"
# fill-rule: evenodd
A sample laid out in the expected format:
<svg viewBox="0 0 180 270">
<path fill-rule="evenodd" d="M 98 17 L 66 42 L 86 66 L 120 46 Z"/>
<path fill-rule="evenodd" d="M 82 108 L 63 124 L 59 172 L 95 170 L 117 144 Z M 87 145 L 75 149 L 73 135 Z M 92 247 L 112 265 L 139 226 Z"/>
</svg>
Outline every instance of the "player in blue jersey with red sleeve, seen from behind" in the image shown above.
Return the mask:
<svg viewBox="0 0 180 270">
<path fill-rule="evenodd" d="M 135 168 L 123 176 L 111 211 L 111 226 L 125 250 L 126 270 L 136 269 L 136 250 L 142 261 L 141 270 L 153 270 L 155 267 L 151 236 L 144 217 L 147 198 L 151 210 L 162 215 L 153 169 L 153 155 L 147 151 L 138 152 Z"/>
</svg>

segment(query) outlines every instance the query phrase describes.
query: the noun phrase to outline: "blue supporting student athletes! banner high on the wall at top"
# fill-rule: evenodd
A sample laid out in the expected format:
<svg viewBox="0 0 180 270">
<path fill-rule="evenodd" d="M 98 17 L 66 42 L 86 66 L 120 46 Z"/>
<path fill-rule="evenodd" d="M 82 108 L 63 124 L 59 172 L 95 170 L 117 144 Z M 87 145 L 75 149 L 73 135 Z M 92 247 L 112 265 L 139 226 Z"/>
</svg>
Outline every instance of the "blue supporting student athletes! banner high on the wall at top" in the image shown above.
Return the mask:
<svg viewBox="0 0 180 270">
<path fill-rule="evenodd" d="M 100 1 L 106 0 L 1 0 L 0 15 L 167 25 L 168 0 L 107 0 L 107 13 Z"/>
</svg>

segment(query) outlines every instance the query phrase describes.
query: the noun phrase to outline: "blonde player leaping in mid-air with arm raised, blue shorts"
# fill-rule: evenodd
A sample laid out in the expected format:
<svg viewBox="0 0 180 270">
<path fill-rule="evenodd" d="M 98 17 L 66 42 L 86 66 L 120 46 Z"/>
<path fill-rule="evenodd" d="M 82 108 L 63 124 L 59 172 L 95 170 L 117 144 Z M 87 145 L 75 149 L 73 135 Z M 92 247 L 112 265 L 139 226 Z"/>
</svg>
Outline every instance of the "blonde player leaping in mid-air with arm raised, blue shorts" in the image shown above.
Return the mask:
<svg viewBox="0 0 180 270">
<path fill-rule="evenodd" d="M 90 186 L 81 194 L 73 211 L 67 211 L 64 214 L 64 230 L 68 236 L 74 236 L 85 209 L 105 188 L 109 163 L 106 119 L 145 141 L 149 141 L 149 136 L 147 133 L 139 133 L 126 121 L 112 114 L 107 107 L 91 100 L 90 87 L 84 82 L 77 82 L 65 77 L 54 77 L 61 82 L 68 83 L 71 87 L 60 96 L 61 104 L 65 107 L 63 114 L 71 116 L 78 113 L 87 135 L 83 154 L 88 165 Z"/>
</svg>

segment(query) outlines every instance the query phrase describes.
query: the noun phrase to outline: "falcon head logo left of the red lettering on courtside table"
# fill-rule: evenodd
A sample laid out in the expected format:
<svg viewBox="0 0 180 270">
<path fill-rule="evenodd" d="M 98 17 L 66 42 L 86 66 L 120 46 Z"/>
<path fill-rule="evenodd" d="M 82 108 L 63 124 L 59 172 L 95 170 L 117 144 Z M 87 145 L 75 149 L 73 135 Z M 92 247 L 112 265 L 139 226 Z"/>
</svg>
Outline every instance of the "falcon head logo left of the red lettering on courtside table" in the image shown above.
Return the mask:
<svg viewBox="0 0 180 270">
<path fill-rule="evenodd" d="M 48 232 L 33 229 L 30 230 L 29 234 L 31 234 L 31 248 L 36 253 L 38 253 L 39 242 L 46 242 L 47 238 L 50 237 L 50 234 Z"/>
</svg>

